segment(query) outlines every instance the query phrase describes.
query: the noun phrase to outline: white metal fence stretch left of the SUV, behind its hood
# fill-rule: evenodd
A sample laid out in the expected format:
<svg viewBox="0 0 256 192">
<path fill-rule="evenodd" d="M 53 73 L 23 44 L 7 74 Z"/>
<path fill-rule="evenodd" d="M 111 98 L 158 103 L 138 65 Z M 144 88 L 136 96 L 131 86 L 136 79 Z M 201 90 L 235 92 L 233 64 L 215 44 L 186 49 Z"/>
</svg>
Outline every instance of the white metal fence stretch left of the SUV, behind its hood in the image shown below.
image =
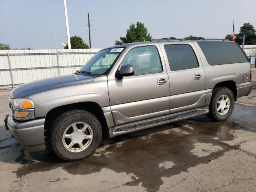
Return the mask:
<svg viewBox="0 0 256 192">
<path fill-rule="evenodd" d="M 0 50 L 0 88 L 72 74 L 99 50 Z"/>
</svg>

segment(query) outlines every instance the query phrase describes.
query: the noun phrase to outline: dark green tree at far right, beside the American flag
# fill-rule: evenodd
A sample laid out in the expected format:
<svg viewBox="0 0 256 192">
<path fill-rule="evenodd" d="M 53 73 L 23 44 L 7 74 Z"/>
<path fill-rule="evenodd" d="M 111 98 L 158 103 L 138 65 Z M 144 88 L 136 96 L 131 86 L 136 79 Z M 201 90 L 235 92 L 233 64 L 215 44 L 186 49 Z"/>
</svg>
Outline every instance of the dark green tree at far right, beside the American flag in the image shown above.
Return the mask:
<svg viewBox="0 0 256 192">
<path fill-rule="evenodd" d="M 236 36 L 236 42 L 240 45 L 243 43 L 243 36 L 245 36 L 244 44 L 245 45 L 255 45 L 256 44 L 256 33 L 254 27 L 250 23 L 244 23 L 240 27 L 240 31 Z"/>
</svg>

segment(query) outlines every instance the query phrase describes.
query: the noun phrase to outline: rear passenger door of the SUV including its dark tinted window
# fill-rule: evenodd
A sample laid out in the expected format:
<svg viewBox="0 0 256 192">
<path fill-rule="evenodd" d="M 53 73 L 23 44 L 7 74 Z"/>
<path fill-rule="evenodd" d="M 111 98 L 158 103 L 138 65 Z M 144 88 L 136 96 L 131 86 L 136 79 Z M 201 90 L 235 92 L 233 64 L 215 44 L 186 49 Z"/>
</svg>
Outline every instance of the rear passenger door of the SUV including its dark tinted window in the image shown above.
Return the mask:
<svg viewBox="0 0 256 192">
<path fill-rule="evenodd" d="M 170 81 L 170 112 L 205 105 L 206 78 L 200 57 L 192 42 L 160 42 Z"/>
</svg>

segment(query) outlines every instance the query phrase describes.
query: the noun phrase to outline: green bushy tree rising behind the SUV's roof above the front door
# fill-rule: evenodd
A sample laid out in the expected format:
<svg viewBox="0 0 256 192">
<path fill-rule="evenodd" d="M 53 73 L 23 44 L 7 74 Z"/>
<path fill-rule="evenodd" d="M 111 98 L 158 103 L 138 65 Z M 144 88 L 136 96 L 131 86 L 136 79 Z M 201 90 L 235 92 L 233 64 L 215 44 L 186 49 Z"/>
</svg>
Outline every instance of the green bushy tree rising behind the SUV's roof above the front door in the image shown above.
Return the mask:
<svg viewBox="0 0 256 192">
<path fill-rule="evenodd" d="M 120 37 L 120 40 L 116 40 L 115 44 L 120 45 L 123 41 L 124 43 L 140 42 L 140 41 L 150 41 L 152 36 L 148 33 L 147 28 L 144 26 L 144 23 L 137 22 L 131 24 L 129 29 L 126 30 L 126 36 Z"/>
</svg>

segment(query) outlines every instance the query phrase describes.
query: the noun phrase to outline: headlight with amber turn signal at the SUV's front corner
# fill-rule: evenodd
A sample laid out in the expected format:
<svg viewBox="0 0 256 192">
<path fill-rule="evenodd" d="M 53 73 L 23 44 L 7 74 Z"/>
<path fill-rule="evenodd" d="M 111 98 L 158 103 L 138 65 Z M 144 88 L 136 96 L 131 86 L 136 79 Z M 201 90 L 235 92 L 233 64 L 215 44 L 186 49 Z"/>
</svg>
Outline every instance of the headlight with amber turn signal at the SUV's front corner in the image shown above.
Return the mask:
<svg viewBox="0 0 256 192">
<path fill-rule="evenodd" d="M 12 112 L 16 120 L 33 119 L 34 103 L 30 99 L 16 98 L 12 100 Z"/>
</svg>

